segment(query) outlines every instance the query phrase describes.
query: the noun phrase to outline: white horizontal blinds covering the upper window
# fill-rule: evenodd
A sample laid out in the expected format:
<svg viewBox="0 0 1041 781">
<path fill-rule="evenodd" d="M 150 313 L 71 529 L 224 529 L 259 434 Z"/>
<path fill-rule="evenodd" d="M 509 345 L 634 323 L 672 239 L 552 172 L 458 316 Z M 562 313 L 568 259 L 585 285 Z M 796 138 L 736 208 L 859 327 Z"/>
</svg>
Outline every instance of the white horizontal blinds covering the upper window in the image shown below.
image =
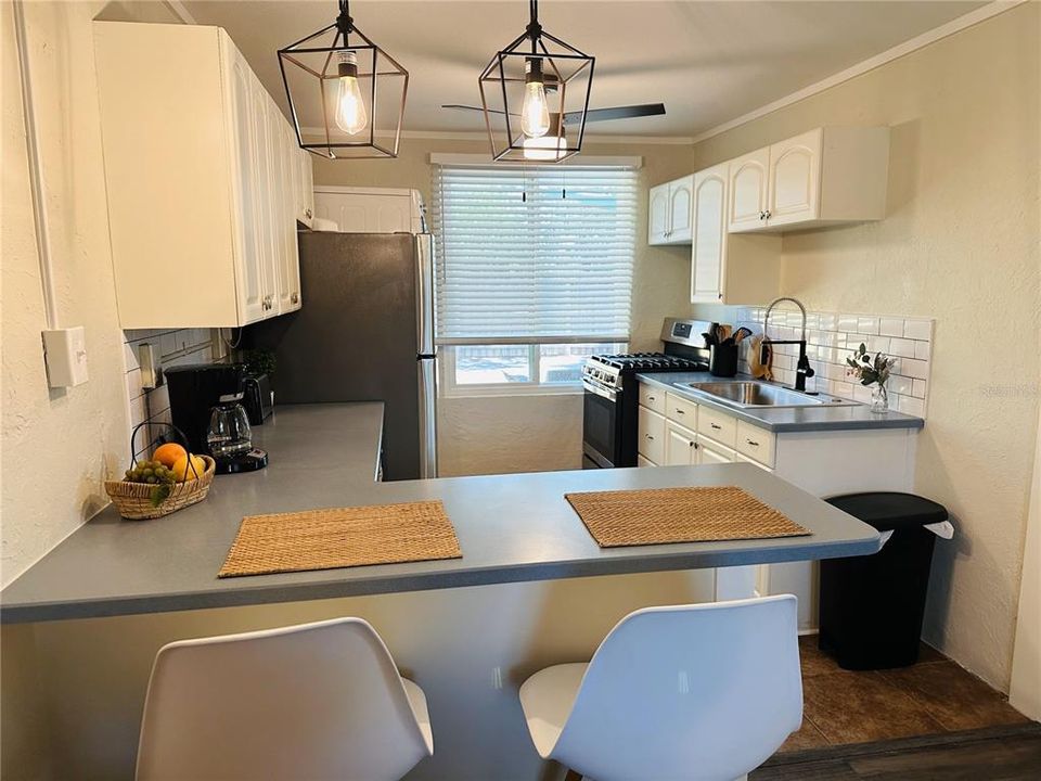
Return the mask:
<svg viewBox="0 0 1041 781">
<path fill-rule="evenodd" d="M 628 342 L 638 178 L 435 165 L 438 343 Z"/>
</svg>

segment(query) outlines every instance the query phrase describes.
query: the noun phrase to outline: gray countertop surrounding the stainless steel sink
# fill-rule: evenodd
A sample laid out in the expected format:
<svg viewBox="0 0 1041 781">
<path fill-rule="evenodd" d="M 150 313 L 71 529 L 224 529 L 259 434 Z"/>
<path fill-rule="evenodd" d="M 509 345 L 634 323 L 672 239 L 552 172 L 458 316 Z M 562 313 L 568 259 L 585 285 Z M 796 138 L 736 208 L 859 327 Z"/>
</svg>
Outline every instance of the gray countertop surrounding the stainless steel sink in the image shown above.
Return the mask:
<svg viewBox="0 0 1041 781">
<path fill-rule="evenodd" d="M 637 380 L 660 387 L 677 396 L 712 407 L 721 412 L 734 415 L 768 431 L 817 432 L 863 428 L 921 428 L 925 421 L 902 412 L 872 412 L 866 405 L 817 406 L 817 407 L 775 407 L 741 409 L 694 390 L 677 387 L 677 383 L 728 382 L 725 377 L 715 377 L 705 372 L 657 372 L 637 374 Z M 731 382 L 751 380 L 749 376 L 736 376 Z"/>
</svg>

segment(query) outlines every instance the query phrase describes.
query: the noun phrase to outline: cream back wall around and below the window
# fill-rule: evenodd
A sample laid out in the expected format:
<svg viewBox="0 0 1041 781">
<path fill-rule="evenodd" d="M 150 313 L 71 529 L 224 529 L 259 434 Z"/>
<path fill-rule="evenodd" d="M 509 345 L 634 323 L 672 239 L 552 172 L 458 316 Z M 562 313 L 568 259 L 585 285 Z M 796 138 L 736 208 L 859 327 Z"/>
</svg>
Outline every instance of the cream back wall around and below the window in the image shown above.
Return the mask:
<svg viewBox="0 0 1041 781">
<path fill-rule="evenodd" d="M 314 161 L 318 184 L 414 188 L 429 202 L 432 152 L 481 154 L 485 141 L 406 139 L 393 161 Z M 660 348 L 667 316 L 690 310 L 690 247 L 647 246 L 646 191 L 690 174 L 690 149 L 677 145 L 588 145 L 594 155 L 641 155 L 633 267 L 632 348 Z M 582 460 L 581 396 L 493 396 L 440 399 L 439 470 L 444 475 L 578 469 Z"/>
</svg>

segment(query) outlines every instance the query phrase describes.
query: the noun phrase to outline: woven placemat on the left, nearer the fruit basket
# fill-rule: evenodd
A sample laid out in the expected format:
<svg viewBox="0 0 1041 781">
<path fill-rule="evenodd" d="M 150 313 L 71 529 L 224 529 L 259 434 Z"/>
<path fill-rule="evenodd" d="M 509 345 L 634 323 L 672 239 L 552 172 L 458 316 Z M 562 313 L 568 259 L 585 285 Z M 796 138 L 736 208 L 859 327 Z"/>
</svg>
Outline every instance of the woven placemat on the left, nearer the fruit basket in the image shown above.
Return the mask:
<svg viewBox="0 0 1041 781">
<path fill-rule="evenodd" d="M 218 577 L 460 559 L 439 501 L 248 515 Z"/>
</svg>

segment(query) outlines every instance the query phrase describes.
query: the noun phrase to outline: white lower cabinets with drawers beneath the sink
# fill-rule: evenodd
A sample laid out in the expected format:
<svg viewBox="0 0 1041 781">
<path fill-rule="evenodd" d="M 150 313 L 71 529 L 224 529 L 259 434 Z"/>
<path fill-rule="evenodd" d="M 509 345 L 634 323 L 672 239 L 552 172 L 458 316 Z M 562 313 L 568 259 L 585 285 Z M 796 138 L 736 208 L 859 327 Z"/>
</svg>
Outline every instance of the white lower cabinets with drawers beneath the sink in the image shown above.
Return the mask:
<svg viewBox="0 0 1041 781">
<path fill-rule="evenodd" d="M 651 383 L 641 383 L 640 399 L 640 466 L 750 463 L 819 497 L 912 489 L 914 430 L 774 433 Z M 817 569 L 815 562 L 719 568 L 714 576 L 716 599 L 794 593 L 799 628 L 814 629 Z"/>
</svg>

